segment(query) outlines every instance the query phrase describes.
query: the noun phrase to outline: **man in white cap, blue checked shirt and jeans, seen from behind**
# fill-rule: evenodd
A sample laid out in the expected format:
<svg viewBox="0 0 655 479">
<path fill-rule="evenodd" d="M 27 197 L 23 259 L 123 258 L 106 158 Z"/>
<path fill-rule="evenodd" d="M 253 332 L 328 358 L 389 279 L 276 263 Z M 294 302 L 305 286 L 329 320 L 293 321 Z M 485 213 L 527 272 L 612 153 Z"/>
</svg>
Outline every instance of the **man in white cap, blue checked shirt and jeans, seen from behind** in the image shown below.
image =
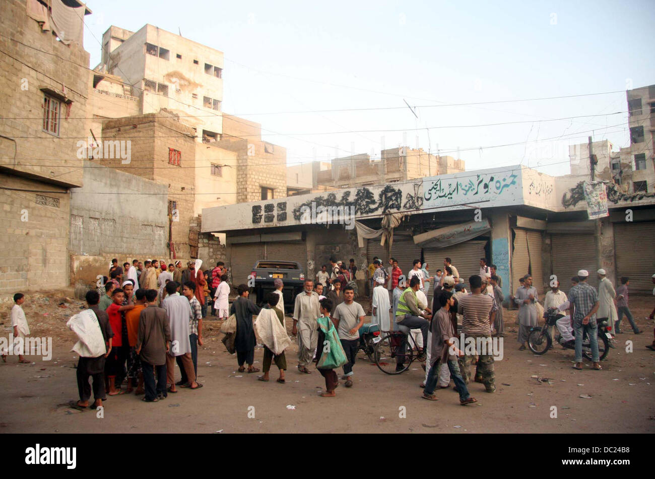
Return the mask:
<svg viewBox="0 0 655 479">
<path fill-rule="evenodd" d="M 586 269 L 578 271 L 580 282 L 569 291 L 571 302 L 571 317 L 573 318 L 573 329 L 575 330 L 575 365 L 574 369 L 582 370 L 582 335 L 584 332 L 589 336 L 591 346 L 591 360 L 593 369 L 601 370 L 598 354 L 598 325 L 596 324 L 596 311 L 598 311 L 598 293 L 596 288 L 587 284 L 589 277 Z"/>
</svg>

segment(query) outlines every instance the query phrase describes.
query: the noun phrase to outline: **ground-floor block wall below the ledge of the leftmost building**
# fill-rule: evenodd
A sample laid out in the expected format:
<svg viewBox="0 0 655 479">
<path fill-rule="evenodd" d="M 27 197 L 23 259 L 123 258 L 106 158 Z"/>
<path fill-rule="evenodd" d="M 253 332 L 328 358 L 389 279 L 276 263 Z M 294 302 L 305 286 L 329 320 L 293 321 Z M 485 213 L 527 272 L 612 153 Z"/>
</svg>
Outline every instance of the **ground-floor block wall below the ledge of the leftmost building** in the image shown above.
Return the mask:
<svg viewBox="0 0 655 479">
<path fill-rule="evenodd" d="M 66 189 L 5 172 L 0 172 L 0 186 L 0 294 L 64 288 L 70 210 Z"/>
</svg>

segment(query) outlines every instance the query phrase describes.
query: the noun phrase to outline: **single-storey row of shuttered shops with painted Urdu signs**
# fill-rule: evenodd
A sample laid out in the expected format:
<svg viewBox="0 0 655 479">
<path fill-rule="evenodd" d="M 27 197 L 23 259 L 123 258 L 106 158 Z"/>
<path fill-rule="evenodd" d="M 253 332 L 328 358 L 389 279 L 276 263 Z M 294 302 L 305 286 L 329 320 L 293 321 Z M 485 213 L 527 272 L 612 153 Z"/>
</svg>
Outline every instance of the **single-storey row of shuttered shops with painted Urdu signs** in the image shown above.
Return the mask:
<svg viewBox="0 0 655 479">
<path fill-rule="evenodd" d="M 599 267 L 613 282 L 620 275 L 630 276 L 631 293 L 650 294 L 655 193 L 623 195 L 608 185 L 610 214 L 595 235 L 578 180 L 522 166 L 432 176 L 208 208 L 202 231 L 227 233 L 234 283 L 245 282 L 254 262 L 262 258 L 300 261 L 312 278 L 332 255 L 343 261 L 355 258 L 362 272 L 373 256 L 385 262 L 394 256 L 405 273 L 413 259 L 422 259 L 434 273 L 443 269 L 448 256 L 466 280 L 477 274 L 479 258 L 489 258 L 498 267 L 506 297 L 526 274 L 533 276 L 540 295 L 552 275 L 567 291 L 578 269 L 590 271 L 589 282 L 596 285 Z M 333 208 L 352 207 L 357 221 L 325 224 L 320 211 L 312 218 L 312 204 L 333 213 Z M 626 221 L 626 208 L 633 213 L 632 221 Z M 396 228 L 384 227 L 390 214 L 408 209 L 413 211 L 402 215 Z"/>
</svg>

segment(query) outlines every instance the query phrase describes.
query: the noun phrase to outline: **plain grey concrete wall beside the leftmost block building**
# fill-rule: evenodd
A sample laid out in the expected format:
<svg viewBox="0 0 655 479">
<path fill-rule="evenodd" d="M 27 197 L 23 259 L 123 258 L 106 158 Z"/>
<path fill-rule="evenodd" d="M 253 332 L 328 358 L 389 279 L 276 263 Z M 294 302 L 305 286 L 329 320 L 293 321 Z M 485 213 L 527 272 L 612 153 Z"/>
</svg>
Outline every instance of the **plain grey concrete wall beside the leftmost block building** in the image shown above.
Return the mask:
<svg viewBox="0 0 655 479">
<path fill-rule="evenodd" d="M 168 257 L 167 195 L 166 185 L 84 161 L 84 186 L 71 191 L 71 254 Z"/>
</svg>

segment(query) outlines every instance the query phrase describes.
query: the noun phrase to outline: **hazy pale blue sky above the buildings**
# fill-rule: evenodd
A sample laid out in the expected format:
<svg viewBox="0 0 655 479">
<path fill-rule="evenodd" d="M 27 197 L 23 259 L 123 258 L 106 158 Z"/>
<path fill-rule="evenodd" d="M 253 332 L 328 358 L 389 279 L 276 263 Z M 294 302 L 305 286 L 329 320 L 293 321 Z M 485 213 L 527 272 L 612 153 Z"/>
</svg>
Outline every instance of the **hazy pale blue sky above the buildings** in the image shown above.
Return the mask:
<svg viewBox="0 0 655 479">
<path fill-rule="evenodd" d="M 90 67 L 111 25 L 179 29 L 224 52 L 223 111 L 261 123 L 263 139 L 288 147 L 289 164 L 351 150 L 377 157 L 383 146 L 415 147 L 418 136 L 419 147 L 458 156 L 467 170 L 523 163 L 566 174 L 568 145 L 589 135 L 614 149 L 629 145 L 625 90 L 655 83 L 652 0 L 89 0 L 88 7 Z M 510 124 L 465 127 L 489 123 Z M 500 146 L 508 144 L 517 145 Z"/>
</svg>

